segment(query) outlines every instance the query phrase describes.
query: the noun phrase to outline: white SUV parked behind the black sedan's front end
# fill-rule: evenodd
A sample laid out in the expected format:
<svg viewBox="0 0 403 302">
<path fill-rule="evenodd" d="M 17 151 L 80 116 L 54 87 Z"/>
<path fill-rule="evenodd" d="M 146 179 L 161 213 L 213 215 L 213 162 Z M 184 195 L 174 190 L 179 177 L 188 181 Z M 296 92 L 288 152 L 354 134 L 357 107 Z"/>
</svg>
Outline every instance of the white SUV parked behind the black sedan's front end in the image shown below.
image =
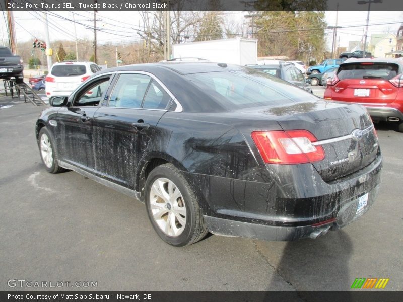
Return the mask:
<svg viewBox="0 0 403 302">
<path fill-rule="evenodd" d="M 69 96 L 77 86 L 100 70 L 93 62 L 54 63 L 46 77 L 46 96 Z"/>
</svg>

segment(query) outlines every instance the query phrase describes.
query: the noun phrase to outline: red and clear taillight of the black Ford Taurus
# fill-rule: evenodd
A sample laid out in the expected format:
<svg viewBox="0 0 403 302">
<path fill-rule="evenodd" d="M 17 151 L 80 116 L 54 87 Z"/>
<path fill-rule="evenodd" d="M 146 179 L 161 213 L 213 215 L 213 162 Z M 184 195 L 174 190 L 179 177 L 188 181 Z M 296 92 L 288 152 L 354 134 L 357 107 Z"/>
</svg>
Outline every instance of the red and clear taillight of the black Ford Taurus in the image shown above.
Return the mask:
<svg viewBox="0 0 403 302">
<path fill-rule="evenodd" d="M 307 130 L 254 131 L 251 136 L 266 164 L 305 164 L 324 159 L 323 148 L 312 144 L 317 139 Z"/>
</svg>

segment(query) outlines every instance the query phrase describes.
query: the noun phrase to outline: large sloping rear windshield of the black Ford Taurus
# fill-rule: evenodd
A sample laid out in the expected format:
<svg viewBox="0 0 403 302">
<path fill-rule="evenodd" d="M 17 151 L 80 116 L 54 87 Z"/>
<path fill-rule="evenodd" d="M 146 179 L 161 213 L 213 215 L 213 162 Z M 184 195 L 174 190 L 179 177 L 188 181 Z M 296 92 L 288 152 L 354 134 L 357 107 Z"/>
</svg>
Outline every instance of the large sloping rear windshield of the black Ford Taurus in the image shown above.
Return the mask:
<svg viewBox="0 0 403 302">
<path fill-rule="evenodd" d="M 230 110 L 317 101 L 317 97 L 303 89 L 253 69 L 194 73 L 186 77 Z"/>
</svg>

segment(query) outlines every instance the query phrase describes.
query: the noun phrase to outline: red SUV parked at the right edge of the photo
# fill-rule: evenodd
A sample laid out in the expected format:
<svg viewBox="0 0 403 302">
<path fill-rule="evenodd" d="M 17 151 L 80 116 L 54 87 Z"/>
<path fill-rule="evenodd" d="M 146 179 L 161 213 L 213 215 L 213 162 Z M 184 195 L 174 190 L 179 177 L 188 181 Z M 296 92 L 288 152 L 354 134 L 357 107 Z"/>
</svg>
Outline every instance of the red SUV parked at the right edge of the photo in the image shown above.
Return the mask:
<svg viewBox="0 0 403 302">
<path fill-rule="evenodd" d="M 326 84 L 324 99 L 364 105 L 374 122 L 403 132 L 403 60 L 348 59 Z"/>
</svg>

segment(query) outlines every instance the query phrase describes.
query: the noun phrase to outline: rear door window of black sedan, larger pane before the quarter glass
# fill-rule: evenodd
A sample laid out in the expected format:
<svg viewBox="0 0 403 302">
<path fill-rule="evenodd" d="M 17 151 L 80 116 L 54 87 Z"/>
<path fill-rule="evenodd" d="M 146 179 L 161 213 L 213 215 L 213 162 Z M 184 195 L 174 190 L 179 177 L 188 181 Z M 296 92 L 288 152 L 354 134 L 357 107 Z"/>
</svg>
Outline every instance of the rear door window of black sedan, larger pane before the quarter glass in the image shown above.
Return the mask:
<svg viewBox="0 0 403 302">
<path fill-rule="evenodd" d="M 120 74 L 108 107 L 141 108 L 150 81 L 151 77 L 145 74 Z"/>
</svg>

